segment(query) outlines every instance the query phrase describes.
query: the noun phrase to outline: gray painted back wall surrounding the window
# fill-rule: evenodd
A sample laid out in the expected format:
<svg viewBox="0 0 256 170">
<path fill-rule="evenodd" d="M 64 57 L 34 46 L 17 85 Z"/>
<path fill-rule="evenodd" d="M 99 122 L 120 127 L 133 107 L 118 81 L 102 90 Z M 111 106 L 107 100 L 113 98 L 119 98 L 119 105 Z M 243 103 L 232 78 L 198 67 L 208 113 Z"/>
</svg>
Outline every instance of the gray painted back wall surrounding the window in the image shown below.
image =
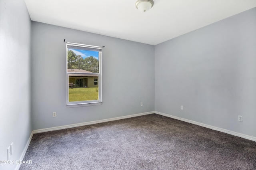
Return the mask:
<svg viewBox="0 0 256 170">
<path fill-rule="evenodd" d="M 105 46 L 102 49 L 102 105 L 66 107 L 64 39 Z M 31 41 L 34 130 L 154 111 L 153 45 L 39 22 L 32 22 Z M 57 117 L 53 118 L 54 111 Z"/>
</svg>

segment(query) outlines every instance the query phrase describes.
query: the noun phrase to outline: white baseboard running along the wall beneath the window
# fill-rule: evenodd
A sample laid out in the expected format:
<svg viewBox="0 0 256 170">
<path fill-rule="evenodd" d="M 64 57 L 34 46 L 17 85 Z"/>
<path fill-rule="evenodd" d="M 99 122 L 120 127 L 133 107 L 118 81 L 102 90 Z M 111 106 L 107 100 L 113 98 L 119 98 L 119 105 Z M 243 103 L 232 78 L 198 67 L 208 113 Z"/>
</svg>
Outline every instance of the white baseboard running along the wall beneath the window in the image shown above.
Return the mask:
<svg viewBox="0 0 256 170">
<path fill-rule="evenodd" d="M 102 119 L 99 121 L 76 123 L 76 124 L 72 124 L 72 125 L 64 125 L 64 126 L 52 127 L 52 128 L 43 128 L 43 129 L 34 130 L 34 134 L 42 133 L 42 132 L 49 132 L 49 131 L 53 131 L 53 130 L 61 130 L 61 129 L 66 129 L 66 128 L 80 127 L 80 126 L 85 126 L 85 125 L 93 125 L 93 124 L 109 122 L 109 121 L 116 121 L 116 120 L 120 120 L 120 119 L 127 119 L 127 118 L 131 118 L 131 117 L 149 115 L 149 114 L 153 114 L 153 113 L 155 113 L 155 112 L 152 111 L 152 112 L 145 112 L 145 113 L 138 113 L 138 114 L 134 114 L 134 115 L 122 116 L 122 117 L 115 117 L 115 118 L 110 118 L 110 119 Z"/>
</svg>

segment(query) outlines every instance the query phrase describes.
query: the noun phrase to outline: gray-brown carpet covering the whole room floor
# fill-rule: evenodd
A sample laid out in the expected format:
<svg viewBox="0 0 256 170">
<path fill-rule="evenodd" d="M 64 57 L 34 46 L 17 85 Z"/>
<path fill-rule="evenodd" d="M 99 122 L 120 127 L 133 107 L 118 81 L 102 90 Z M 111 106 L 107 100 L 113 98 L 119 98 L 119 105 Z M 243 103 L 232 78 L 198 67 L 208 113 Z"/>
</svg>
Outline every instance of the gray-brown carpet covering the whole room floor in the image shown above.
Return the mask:
<svg viewBox="0 0 256 170">
<path fill-rule="evenodd" d="M 152 114 L 34 134 L 20 170 L 256 170 L 256 142 Z"/>
</svg>

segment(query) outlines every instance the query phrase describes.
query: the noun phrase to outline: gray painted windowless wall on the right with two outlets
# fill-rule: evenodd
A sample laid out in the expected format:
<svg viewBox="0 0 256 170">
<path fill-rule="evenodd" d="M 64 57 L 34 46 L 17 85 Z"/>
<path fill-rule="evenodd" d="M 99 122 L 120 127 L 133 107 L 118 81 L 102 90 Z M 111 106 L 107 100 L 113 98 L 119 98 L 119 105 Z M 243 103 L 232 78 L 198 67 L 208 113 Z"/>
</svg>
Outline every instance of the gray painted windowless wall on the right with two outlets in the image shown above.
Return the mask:
<svg viewBox="0 0 256 170">
<path fill-rule="evenodd" d="M 252 8 L 156 45 L 155 110 L 256 137 L 255 30 Z"/>
</svg>

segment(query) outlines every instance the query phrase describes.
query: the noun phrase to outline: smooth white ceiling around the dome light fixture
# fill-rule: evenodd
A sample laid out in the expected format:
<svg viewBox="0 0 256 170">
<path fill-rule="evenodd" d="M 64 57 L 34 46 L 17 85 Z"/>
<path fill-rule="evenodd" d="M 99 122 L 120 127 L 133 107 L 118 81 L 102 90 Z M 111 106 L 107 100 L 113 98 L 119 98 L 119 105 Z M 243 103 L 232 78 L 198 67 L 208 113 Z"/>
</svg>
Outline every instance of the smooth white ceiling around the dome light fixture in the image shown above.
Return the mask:
<svg viewBox="0 0 256 170">
<path fill-rule="evenodd" d="M 156 45 L 256 7 L 256 0 L 25 0 L 32 21 Z"/>
</svg>

